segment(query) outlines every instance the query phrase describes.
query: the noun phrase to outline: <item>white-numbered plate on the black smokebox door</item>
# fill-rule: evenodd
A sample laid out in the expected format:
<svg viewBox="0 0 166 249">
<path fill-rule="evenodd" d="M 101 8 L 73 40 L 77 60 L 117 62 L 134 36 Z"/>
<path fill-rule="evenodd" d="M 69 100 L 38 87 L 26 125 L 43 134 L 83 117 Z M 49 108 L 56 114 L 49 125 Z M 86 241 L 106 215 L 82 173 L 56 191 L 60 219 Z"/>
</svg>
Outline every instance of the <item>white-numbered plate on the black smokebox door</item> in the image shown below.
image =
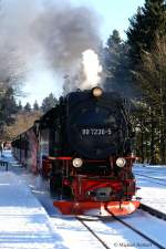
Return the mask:
<svg viewBox="0 0 166 249">
<path fill-rule="evenodd" d="M 111 128 L 82 128 L 81 134 L 83 136 L 105 136 L 112 135 Z"/>
</svg>

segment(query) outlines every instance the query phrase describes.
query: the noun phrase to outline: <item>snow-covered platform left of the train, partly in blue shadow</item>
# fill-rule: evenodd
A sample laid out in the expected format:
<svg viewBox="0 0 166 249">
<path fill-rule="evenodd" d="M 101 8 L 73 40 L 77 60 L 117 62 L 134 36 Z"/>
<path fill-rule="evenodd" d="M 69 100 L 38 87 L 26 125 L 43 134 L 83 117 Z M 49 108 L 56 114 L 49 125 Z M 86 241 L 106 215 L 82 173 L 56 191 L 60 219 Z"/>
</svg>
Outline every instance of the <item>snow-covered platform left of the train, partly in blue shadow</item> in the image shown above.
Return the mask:
<svg viewBox="0 0 166 249">
<path fill-rule="evenodd" d="M 0 248 L 64 248 L 44 208 L 13 173 L 0 172 Z"/>
</svg>

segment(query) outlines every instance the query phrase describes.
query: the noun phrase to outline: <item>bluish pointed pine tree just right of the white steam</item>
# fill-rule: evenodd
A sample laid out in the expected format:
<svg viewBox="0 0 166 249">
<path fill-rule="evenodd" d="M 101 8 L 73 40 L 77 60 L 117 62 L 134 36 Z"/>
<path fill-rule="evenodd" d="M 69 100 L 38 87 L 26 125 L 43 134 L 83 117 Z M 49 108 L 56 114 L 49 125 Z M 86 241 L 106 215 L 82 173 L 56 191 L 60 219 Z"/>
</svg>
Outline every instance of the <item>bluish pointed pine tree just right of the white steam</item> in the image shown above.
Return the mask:
<svg viewBox="0 0 166 249">
<path fill-rule="evenodd" d="M 127 51 L 128 45 L 122 41 L 118 31 L 114 30 L 104 50 L 105 87 L 124 95 L 132 93 L 132 85 L 128 79 Z"/>
</svg>

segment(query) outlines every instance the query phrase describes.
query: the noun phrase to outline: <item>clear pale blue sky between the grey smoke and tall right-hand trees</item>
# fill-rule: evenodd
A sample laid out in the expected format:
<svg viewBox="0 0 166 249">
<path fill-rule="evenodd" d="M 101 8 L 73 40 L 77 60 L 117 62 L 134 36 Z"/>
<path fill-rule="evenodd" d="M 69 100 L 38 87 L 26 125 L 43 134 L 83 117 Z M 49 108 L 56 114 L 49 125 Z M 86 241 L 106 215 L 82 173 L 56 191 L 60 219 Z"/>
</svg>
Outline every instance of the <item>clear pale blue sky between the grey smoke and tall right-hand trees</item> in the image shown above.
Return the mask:
<svg viewBox="0 0 166 249">
<path fill-rule="evenodd" d="M 145 0 L 72 0 L 75 4 L 84 4 L 94 9 L 101 15 L 101 35 L 106 41 L 112 30 L 120 31 L 123 39 L 129 25 L 128 19 L 133 17 Z"/>
</svg>

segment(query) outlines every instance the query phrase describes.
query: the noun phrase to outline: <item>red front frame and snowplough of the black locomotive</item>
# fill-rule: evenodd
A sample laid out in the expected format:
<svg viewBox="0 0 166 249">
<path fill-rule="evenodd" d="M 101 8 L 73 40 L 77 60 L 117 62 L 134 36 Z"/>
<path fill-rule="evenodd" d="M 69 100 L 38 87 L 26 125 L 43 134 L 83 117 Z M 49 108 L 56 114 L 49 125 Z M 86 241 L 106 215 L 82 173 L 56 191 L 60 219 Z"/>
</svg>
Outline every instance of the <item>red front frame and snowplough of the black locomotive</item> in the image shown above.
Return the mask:
<svg viewBox="0 0 166 249">
<path fill-rule="evenodd" d="M 71 157 L 50 157 L 49 159 L 50 162 L 48 160 L 48 167 L 45 165 L 45 172 L 48 173 L 50 172 L 51 160 L 54 159 L 61 160 L 61 163 L 68 168 L 72 167 Z M 132 166 L 136 157 L 131 156 L 126 157 L 125 159 L 127 164 L 124 168 L 124 172 L 121 173 L 121 181 L 118 179 L 111 180 L 111 176 L 107 176 L 106 178 L 98 177 L 98 179 L 94 177 L 93 179 L 93 177 L 90 177 L 89 175 L 75 175 L 73 181 L 70 181 L 64 178 L 63 185 L 72 188 L 74 199 L 54 200 L 53 205 L 59 208 L 63 215 L 83 215 L 89 212 L 91 209 L 97 209 L 100 210 L 100 214 L 103 215 L 106 215 L 106 212 L 108 211 L 114 216 L 126 216 L 134 212 L 139 206 L 138 200 L 132 200 L 132 197 L 135 195 L 136 191 L 135 179 L 126 178 L 124 176 L 132 170 Z M 110 164 L 113 166 L 115 164 L 115 158 L 110 158 Z M 125 188 L 125 191 L 123 193 L 124 197 L 121 200 L 116 200 L 116 197 L 114 197 L 111 201 L 96 201 L 95 198 L 86 195 L 86 193 L 89 193 L 90 190 L 93 191 L 96 188 L 106 187 L 111 187 L 114 193 L 121 193 Z"/>
</svg>

